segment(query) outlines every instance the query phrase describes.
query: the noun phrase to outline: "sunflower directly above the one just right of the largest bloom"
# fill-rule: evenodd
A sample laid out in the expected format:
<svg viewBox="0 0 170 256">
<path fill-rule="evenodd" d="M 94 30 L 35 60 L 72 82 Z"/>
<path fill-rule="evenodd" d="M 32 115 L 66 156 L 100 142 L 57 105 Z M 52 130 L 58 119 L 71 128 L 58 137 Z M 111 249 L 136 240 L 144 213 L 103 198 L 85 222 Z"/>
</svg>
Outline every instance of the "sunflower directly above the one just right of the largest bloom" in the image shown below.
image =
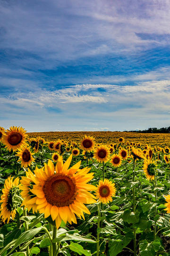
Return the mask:
<svg viewBox="0 0 170 256">
<path fill-rule="evenodd" d="M 100 163 L 109 160 L 110 148 L 106 145 L 97 146 L 94 151 L 94 158 Z"/>
</svg>

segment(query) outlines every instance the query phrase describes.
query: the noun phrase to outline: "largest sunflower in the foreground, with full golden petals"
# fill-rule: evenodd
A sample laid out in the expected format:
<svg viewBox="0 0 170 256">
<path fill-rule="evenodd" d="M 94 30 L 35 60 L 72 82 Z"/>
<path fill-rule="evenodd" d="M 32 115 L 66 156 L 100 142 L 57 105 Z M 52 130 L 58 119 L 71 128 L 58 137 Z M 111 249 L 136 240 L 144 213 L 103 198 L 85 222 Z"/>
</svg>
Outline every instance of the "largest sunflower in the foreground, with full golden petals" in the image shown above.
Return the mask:
<svg viewBox="0 0 170 256">
<path fill-rule="evenodd" d="M 59 158 L 55 170 L 51 160 L 44 169 L 36 169 L 35 185 L 30 190 L 35 196 L 32 206 L 36 204 L 37 210 L 44 213 L 44 217 L 51 217 L 57 229 L 61 220 L 76 223 L 75 214 L 81 219 L 83 212 L 90 214 L 84 203 L 94 203 L 95 197 L 88 191 L 96 189 L 87 184 L 93 179 L 93 173 L 88 173 L 90 168 L 79 169 L 81 161 L 68 169 L 72 155 L 63 164 L 62 156 Z M 35 201 L 35 202 L 34 202 Z M 31 204 L 30 204 L 31 206 Z"/>
</svg>

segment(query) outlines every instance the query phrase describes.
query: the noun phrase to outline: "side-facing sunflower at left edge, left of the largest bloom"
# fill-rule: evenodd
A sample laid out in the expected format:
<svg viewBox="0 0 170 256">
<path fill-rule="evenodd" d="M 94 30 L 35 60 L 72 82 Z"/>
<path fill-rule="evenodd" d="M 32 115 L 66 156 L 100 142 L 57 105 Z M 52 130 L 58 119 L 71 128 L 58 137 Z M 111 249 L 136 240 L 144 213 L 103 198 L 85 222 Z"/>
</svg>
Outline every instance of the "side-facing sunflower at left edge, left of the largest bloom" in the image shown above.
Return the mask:
<svg viewBox="0 0 170 256">
<path fill-rule="evenodd" d="M 5 180 L 4 189 L 2 189 L 2 195 L 0 202 L 2 203 L 0 206 L 0 218 L 5 223 L 5 220 L 7 219 L 7 223 L 10 220 L 10 217 L 12 219 L 15 218 L 16 215 L 16 208 L 19 202 L 15 200 L 15 196 L 17 195 L 18 191 L 18 184 L 19 184 L 19 178 L 17 177 L 13 181 L 13 177 L 8 177 L 8 179 Z"/>
</svg>

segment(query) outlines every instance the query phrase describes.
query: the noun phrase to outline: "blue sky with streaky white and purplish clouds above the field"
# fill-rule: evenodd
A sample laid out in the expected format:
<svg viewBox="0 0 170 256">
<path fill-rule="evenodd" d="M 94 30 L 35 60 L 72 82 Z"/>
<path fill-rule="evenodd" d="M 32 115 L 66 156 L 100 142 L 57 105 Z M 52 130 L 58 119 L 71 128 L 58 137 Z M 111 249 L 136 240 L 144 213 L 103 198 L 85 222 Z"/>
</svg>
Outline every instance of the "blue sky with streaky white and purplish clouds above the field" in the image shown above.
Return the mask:
<svg viewBox="0 0 170 256">
<path fill-rule="evenodd" d="M 0 0 L 0 126 L 170 126 L 169 0 Z"/>
</svg>

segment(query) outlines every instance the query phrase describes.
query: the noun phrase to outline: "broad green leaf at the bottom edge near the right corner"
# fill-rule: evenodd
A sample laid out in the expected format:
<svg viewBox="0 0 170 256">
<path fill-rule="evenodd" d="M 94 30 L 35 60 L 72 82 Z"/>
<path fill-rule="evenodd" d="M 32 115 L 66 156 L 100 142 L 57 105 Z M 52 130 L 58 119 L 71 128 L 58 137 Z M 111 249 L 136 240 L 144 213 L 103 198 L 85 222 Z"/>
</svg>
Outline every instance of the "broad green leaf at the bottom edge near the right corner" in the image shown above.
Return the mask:
<svg viewBox="0 0 170 256">
<path fill-rule="evenodd" d="M 159 251 L 161 242 L 156 239 L 149 243 L 147 240 L 143 240 L 139 245 L 140 256 L 155 256 L 155 252 Z"/>
</svg>

